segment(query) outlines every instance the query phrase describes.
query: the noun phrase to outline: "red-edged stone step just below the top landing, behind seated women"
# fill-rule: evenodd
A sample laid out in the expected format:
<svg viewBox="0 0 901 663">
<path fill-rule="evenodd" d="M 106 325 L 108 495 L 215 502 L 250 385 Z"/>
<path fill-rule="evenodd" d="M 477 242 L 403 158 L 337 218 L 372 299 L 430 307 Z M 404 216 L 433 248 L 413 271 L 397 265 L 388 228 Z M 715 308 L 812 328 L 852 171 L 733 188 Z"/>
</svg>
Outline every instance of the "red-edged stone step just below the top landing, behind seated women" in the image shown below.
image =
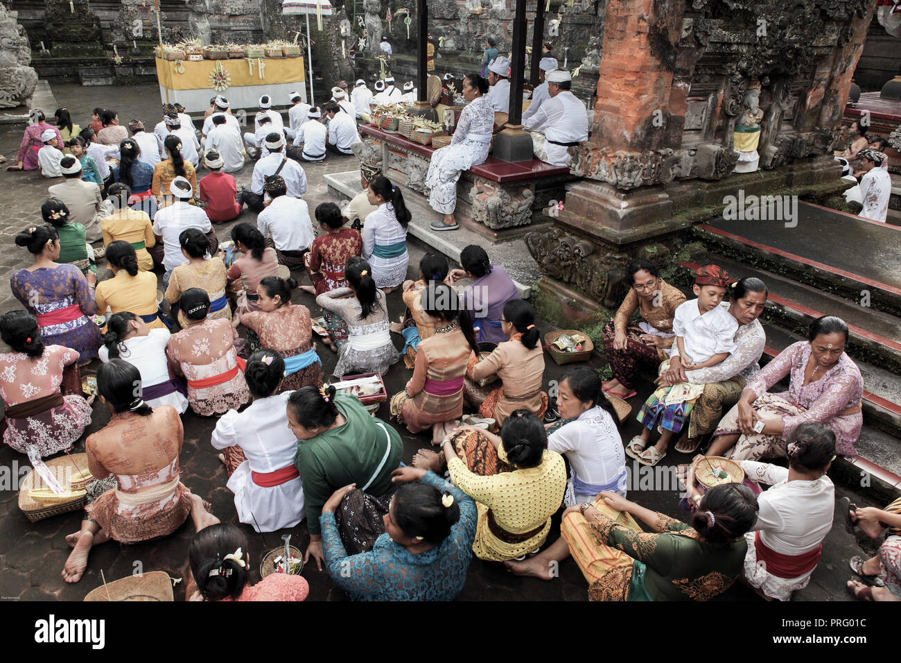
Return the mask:
<svg viewBox="0 0 901 663">
<path fill-rule="evenodd" d="M 896 318 L 871 307 L 852 304 L 847 299 L 817 290 L 785 276 L 749 267 L 719 253 L 696 256 L 691 262 L 680 262 L 687 270 L 696 269 L 699 263 L 713 262 L 730 273 L 734 279 L 755 276 L 769 288 L 768 319 L 778 321 L 783 327 L 798 328 L 801 333 L 807 325 L 824 315 L 842 318 L 851 331 L 848 354 L 860 361 L 884 366 L 901 374 L 901 318 Z"/>
</svg>

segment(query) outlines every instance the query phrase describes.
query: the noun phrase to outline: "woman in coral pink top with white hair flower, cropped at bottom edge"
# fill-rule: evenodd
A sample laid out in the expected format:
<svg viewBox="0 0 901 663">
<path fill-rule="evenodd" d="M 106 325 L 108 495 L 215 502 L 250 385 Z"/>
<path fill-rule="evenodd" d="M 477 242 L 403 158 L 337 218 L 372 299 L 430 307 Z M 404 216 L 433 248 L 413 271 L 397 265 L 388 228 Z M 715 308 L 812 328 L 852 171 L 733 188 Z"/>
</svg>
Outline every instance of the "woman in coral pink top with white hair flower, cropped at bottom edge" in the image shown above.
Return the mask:
<svg viewBox="0 0 901 663">
<path fill-rule="evenodd" d="M 273 573 L 256 585 L 250 576 L 249 544 L 241 529 L 219 522 L 199 529 L 191 539 L 188 562 L 196 593 L 188 601 L 303 601 L 310 593 L 304 576 Z"/>
</svg>

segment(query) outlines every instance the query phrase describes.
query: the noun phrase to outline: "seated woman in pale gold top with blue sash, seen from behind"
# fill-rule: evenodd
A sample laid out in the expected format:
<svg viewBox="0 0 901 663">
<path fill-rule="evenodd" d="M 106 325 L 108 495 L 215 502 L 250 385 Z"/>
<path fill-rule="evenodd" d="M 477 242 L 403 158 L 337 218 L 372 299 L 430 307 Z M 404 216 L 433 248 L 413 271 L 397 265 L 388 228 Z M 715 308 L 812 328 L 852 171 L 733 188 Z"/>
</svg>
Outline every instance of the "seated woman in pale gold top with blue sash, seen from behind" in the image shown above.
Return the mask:
<svg viewBox="0 0 901 663">
<path fill-rule="evenodd" d="M 225 296 L 225 263 L 220 254 L 206 259 L 209 250 L 209 241 L 206 235 L 196 228 L 187 228 L 178 235 L 178 245 L 181 246 L 181 254 L 187 258 L 187 262 L 178 265 L 172 270 L 166 288 L 166 301 L 177 304 L 178 299 L 186 290 L 199 288 L 205 290 L 210 298 L 210 311 L 207 315 L 211 320 L 231 320 L 232 308 L 228 305 Z M 185 312 L 178 309 L 178 324 L 187 327 Z"/>
</svg>

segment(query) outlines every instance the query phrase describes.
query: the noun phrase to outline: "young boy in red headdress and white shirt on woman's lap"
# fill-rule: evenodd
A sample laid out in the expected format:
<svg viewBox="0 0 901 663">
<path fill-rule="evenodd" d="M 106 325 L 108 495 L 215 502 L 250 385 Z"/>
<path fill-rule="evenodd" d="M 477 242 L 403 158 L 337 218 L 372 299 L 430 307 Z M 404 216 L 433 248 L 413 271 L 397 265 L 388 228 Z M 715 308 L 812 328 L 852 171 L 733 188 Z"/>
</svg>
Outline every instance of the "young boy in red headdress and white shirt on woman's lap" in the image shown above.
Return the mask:
<svg viewBox="0 0 901 663">
<path fill-rule="evenodd" d="M 728 286 L 729 274 L 722 267 L 714 264 L 700 267 L 694 286 L 697 299 L 689 299 L 676 309 L 673 332 L 678 355 L 686 368 L 715 366 L 735 350 L 738 321 L 727 308 L 720 306 Z M 669 360 L 660 365 L 660 373 L 667 368 Z M 670 438 L 687 422 L 704 386 L 683 382 L 654 391 L 635 417 L 645 427 L 642 435 L 632 438 L 625 453 L 642 465 L 657 465 L 667 455 Z M 655 427 L 660 428 L 660 439 L 654 447 L 646 449 Z"/>
</svg>

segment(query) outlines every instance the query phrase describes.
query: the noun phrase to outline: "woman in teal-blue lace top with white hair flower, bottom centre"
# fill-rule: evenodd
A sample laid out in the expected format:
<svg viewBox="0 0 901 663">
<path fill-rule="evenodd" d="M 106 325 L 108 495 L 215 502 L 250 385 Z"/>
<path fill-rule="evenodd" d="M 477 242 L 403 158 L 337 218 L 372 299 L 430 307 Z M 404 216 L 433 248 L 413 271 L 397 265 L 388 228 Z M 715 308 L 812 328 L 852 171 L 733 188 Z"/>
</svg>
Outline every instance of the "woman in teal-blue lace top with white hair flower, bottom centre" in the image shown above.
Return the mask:
<svg viewBox="0 0 901 663">
<path fill-rule="evenodd" d="M 404 484 L 388 507 L 382 534 L 369 552 L 348 555 L 334 512 L 350 486 L 323 505 L 325 569 L 356 601 L 453 601 L 466 582 L 478 512 L 466 493 L 432 472 L 400 467 Z"/>
</svg>

